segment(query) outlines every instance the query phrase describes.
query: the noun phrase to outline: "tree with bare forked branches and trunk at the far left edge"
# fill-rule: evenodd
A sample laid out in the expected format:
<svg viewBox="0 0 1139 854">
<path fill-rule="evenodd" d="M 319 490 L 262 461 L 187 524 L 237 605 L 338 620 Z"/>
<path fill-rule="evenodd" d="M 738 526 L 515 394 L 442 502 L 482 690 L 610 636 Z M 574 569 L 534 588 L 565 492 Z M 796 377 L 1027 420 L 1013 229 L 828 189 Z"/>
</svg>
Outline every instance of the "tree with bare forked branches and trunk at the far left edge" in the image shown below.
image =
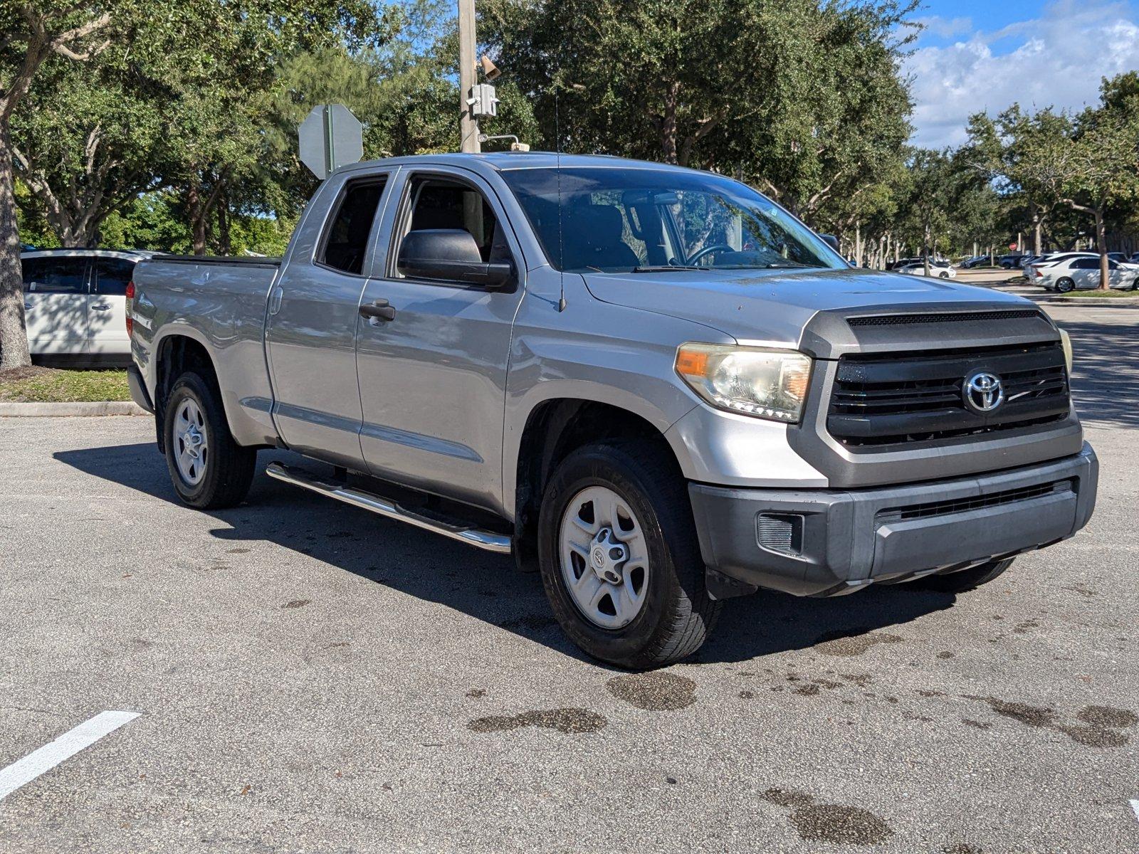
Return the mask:
<svg viewBox="0 0 1139 854">
<path fill-rule="evenodd" d="M 13 172 L 11 118 L 44 60 L 84 61 L 104 49 L 110 9 L 63 0 L 0 0 L 0 369 L 31 364 Z"/>
</svg>

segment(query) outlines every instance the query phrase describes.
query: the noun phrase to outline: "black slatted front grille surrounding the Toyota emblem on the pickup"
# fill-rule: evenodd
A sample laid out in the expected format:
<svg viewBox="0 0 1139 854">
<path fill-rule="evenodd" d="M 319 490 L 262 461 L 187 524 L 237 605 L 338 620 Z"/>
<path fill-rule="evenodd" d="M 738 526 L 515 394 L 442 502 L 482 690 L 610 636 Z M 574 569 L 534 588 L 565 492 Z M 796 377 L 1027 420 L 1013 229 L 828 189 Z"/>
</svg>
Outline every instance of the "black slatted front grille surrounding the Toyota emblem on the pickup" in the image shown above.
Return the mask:
<svg viewBox="0 0 1139 854">
<path fill-rule="evenodd" d="M 991 412 L 966 404 L 965 380 L 1000 378 Z M 853 451 L 1029 429 L 1065 419 L 1068 378 L 1059 343 L 912 354 L 855 354 L 838 363 L 827 429 Z"/>
</svg>

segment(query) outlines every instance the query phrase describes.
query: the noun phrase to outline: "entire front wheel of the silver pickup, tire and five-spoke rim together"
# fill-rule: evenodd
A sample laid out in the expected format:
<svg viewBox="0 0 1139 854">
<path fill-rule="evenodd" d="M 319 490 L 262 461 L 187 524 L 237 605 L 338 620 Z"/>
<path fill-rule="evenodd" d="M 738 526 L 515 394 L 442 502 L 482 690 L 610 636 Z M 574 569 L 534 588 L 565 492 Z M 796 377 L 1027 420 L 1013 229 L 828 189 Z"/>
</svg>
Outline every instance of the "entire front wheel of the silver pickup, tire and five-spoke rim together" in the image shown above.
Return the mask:
<svg viewBox="0 0 1139 854">
<path fill-rule="evenodd" d="M 648 442 L 591 444 L 550 478 L 539 517 L 542 585 L 581 649 L 647 670 L 704 643 L 720 613 L 704 586 L 688 487 Z"/>
</svg>

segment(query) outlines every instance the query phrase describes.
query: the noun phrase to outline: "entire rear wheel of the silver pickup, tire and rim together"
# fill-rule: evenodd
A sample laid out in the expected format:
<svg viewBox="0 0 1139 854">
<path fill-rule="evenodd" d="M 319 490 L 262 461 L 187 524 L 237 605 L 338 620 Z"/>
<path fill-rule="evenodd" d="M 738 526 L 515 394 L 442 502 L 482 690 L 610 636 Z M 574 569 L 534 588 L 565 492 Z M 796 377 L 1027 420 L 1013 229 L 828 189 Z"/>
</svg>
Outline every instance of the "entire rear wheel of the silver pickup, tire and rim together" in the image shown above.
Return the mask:
<svg viewBox="0 0 1139 854">
<path fill-rule="evenodd" d="M 199 373 L 187 371 L 174 381 L 164 436 L 170 479 L 185 503 L 215 510 L 248 493 L 257 452 L 233 441 L 218 389 Z"/>
</svg>

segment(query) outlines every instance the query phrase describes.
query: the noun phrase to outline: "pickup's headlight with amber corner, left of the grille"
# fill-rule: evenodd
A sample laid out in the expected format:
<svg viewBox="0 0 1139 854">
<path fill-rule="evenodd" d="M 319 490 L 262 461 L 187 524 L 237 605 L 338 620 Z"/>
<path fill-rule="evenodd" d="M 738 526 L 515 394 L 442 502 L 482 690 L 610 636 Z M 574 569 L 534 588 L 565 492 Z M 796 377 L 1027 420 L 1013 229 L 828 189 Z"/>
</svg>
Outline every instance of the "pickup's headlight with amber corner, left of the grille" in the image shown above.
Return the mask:
<svg viewBox="0 0 1139 854">
<path fill-rule="evenodd" d="M 811 358 L 786 350 L 682 344 L 677 373 L 713 407 L 796 424 L 811 379 Z"/>
</svg>

